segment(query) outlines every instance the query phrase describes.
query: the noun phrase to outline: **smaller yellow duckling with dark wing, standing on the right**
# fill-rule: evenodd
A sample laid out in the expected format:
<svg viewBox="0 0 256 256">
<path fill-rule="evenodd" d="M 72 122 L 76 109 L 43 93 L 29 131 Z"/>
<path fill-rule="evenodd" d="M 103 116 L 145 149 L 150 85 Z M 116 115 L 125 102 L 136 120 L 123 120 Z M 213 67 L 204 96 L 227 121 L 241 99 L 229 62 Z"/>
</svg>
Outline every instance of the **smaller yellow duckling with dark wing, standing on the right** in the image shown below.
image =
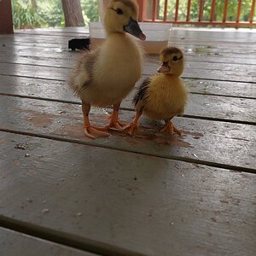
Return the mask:
<svg viewBox="0 0 256 256">
<path fill-rule="evenodd" d="M 166 122 L 161 131 L 181 135 L 181 131 L 172 124 L 171 119 L 184 112 L 188 93 L 179 76 L 183 73 L 183 52 L 176 47 L 168 47 L 160 52 L 159 74 L 145 79 L 133 98 L 137 110 L 130 125 L 129 134 L 138 129 L 138 119 L 144 113 L 150 119 L 163 119 Z"/>
</svg>

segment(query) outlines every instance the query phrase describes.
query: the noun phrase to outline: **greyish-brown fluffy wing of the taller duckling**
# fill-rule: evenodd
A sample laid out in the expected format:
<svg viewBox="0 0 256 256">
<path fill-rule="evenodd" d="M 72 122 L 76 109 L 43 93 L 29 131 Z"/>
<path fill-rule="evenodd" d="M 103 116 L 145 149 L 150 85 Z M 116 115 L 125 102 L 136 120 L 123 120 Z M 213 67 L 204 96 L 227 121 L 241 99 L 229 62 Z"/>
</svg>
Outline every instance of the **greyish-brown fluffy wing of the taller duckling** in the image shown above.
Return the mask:
<svg viewBox="0 0 256 256">
<path fill-rule="evenodd" d="M 74 93 L 81 95 L 93 78 L 93 68 L 99 51 L 84 52 L 77 60 L 76 66 L 69 77 L 68 84 Z"/>
</svg>

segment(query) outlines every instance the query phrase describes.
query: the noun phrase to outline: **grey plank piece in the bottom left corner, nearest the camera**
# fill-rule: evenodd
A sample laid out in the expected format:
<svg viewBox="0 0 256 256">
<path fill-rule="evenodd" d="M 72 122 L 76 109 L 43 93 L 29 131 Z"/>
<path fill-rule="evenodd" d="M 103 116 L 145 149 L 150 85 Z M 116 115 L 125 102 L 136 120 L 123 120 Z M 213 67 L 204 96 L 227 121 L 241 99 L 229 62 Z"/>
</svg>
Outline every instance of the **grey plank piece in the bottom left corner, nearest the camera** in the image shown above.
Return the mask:
<svg viewBox="0 0 256 256">
<path fill-rule="evenodd" d="M 7 230 L 0 227 L 0 247 L 2 256 L 16 255 L 63 255 L 63 256 L 96 256 L 77 249 L 62 246 L 50 241 L 44 241 L 37 237 Z"/>
</svg>

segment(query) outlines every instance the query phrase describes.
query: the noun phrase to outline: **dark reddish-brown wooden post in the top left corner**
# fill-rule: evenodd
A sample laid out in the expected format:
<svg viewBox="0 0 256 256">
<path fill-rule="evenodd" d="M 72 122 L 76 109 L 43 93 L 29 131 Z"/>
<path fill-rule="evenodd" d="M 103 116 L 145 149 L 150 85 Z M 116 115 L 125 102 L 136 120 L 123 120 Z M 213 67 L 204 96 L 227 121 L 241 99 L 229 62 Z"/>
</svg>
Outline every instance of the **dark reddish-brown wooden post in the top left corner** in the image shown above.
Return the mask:
<svg viewBox="0 0 256 256">
<path fill-rule="evenodd" d="M 0 0 L 0 34 L 12 34 L 13 32 L 11 0 Z"/>
</svg>

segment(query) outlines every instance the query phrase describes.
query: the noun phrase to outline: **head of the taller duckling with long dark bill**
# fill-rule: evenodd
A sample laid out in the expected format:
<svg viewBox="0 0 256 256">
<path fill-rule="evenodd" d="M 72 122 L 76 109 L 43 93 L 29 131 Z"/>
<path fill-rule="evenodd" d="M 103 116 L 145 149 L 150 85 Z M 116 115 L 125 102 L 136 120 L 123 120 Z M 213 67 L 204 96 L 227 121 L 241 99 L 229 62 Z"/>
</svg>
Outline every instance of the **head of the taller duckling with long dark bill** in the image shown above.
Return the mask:
<svg viewBox="0 0 256 256">
<path fill-rule="evenodd" d="M 146 36 L 137 23 L 138 6 L 133 0 L 110 0 L 104 25 L 108 34 L 113 32 L 128 32 L 136 38 L 145 40 Z"/>
</svg>

